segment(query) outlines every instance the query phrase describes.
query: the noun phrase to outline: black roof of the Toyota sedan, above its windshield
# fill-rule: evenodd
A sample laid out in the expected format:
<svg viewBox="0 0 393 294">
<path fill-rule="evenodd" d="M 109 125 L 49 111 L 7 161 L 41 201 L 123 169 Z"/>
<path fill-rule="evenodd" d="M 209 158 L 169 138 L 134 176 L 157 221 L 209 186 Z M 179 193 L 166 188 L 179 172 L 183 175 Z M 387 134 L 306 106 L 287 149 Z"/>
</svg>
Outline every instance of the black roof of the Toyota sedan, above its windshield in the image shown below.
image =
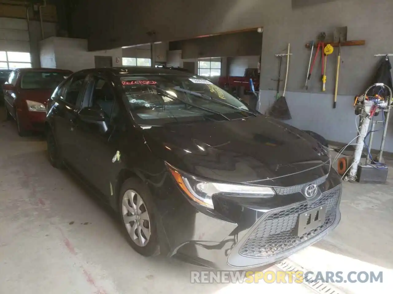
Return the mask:
<svg viewBox="0 0 393 294">
<path fill-rule="evenodd" d="M 92 69 L 83 69 L 77 73 L 110 73 L 116 76 L 127 74 L 179 74 L 185 76 L 193 76 L 194 74 L 185 71 L 176 71 L 175 69 L 166 69 L 160 67 L 147 66 L 123 66 L 123 67 L 101 67 Z"/>
</svg>

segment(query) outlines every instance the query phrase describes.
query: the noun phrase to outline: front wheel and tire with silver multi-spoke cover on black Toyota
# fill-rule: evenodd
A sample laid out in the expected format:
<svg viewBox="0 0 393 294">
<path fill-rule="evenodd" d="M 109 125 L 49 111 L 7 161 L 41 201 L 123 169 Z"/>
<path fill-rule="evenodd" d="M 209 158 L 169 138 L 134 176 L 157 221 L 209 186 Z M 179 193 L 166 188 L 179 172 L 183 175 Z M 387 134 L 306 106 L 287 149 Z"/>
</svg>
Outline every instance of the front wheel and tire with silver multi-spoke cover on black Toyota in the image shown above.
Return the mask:
<svg viewBox="0 0 393 294">
<path fill-rule="evenodd" d="M 125 180 L 118 202 L 121 227 L 132 249 L 143 256 L 160 254 L 156 209 L 147 186 L 137 178 Z"/>
</svg>

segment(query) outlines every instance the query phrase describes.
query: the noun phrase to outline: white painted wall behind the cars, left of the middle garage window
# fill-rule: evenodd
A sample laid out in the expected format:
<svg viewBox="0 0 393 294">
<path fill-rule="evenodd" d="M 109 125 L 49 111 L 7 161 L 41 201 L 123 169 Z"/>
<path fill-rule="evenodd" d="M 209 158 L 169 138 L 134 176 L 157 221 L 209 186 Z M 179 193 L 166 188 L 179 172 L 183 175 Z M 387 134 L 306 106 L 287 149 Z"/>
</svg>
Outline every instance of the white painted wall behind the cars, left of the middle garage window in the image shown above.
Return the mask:
<svg viewBox="0 0 393 294">
<path fill-rule="evenodd" d="M 80 71 L 82 69 L 94 68 L 94 56 L 112 56 L 113 66 L 121 66 L 121 48 L 87 51 L 86 39 L 50 37 L 40 42 L 41 65 L 50 65 L 59 69 Z M 54 56 L 55 62 L 51 62 Z M 116 63 L 117 58 L 119 60 Z"/>
</svg>

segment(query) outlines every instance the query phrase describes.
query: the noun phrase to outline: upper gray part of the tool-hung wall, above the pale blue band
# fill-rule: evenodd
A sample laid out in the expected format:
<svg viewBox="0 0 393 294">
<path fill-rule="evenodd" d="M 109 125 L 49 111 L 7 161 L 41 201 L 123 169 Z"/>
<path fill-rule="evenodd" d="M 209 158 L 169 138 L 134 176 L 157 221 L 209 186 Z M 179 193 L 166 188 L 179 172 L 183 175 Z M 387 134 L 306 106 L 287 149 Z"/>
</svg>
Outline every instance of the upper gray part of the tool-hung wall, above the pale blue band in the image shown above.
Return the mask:
<svg viewBox="0 0 393 294">
<path fill-rule="evenodd" d="M 361 21 L 359 18 L 359 16 L 368 18 L 373 15 L 378 15 L 378 18 L 372 22 Z M 272 78 L 277 78 L 278 59 L 274 54 L 285 52 L 290 43 L 293 55 L 290 61 L 288 90 L 305 91 L 303 85 L 310 57 L 310 51 L 305 48 L 305 44 L 310 40 L 316 40 L 322 31 L 326 32 L 327 40 L 332 39 L 334 27 L 347 25 L 348 40 L 366 40 L 366 45 L 342 47 L 338 94 L 355 95 L 364 91 L 378 62 L 374 54 L 392 53 L 389 52 L 393 50 L 392 15 L 393 1 L 391 0 L 340 0 L 294 10 L 283 7 L 281 17 L 277 21 L 264 25 L 262 89 L 275 89 Z M 328 57 L 327 93 L 334 91 L 338 50 L 335 51 Z M 283 67 L 285 64 L 284 62 Z M 309 92 L 321 92 L 321 67 L 320 64 L 318 65 L 314 69 Z"/>
</svg>

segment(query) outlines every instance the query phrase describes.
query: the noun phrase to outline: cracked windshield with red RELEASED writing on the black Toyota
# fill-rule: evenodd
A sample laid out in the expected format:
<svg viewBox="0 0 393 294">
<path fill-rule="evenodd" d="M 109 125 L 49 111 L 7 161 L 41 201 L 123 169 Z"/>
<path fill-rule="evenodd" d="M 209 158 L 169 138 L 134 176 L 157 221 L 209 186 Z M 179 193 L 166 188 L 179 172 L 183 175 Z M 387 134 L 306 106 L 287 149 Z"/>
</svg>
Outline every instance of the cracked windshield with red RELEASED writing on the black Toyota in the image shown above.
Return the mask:
<svg viewBox="0 0 393 294">
<path fill-rule="evenodd" d="M 253 114 L 237 98 L 200 76 L 128 75 L 120 78 L 139 124 L 232 120 Z"/>
</svg>

